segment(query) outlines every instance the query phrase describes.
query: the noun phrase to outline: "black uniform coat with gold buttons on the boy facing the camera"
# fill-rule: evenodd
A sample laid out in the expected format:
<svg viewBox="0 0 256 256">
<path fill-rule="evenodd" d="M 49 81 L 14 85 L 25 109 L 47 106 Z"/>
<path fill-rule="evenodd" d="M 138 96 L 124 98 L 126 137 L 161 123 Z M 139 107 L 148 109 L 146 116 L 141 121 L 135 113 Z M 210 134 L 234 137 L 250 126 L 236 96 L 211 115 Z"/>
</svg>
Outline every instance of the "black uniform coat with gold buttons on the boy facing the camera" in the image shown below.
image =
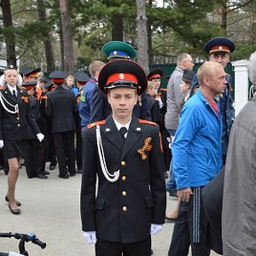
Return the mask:
<svg viewBox="0 0 256 256">
<path fill-rule="evenodd" d="M 95 130 L 94 126 L 84 131 L 82 229 L 96 230 L 98 238 L 110 242 L 139 242 L 150 236 L 151 223 L 164 223 L 166 192 L 158 125 L 141 124 L 132 116 L 123 148 L 112 116 L 100 124 L 108 172 L 120 170 L 114 183 L 106 180 L 101 171 Z M 147 158 L 142 160 L 137 150 L 144 146 L 146 138 L 152 138 L 149 144 L 153 148 L 145 151 Z M 95 198 L 96 175 L 99 184 Z"/>
</svg>

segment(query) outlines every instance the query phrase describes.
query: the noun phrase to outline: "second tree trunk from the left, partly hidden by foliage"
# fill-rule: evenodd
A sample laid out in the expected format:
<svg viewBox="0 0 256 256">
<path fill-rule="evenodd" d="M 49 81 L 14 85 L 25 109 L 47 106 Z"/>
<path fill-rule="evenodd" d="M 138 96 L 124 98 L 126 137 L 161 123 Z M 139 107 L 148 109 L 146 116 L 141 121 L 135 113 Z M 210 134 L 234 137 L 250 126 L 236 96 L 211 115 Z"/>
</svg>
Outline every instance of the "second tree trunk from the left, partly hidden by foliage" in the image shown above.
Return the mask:
<svg viewBox="0 0 256 256">
<path fill-rule="evenodd" d="M 39 20 L 42 22 L 46 22 L 46 12 L 44 6 L 44 0 L 36 0 L 37 3 L 37 12 Z M 52 40 L 51 40 L 51 33 L 45 32 L 44 33 L 44 52 L 46 58 L 46 71 L 48 73 L 55 70 L 55 61 L 54 61 L 54 54 L 52 49 Z"/>
</svg>

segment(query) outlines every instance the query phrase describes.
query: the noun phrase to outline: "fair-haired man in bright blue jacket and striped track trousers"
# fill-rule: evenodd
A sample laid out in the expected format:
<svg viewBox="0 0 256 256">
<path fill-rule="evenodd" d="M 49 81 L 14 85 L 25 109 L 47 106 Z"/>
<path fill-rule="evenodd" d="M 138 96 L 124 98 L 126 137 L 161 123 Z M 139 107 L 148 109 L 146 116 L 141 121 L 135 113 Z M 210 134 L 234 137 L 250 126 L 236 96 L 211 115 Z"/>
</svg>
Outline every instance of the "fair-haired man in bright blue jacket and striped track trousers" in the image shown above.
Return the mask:
<svg viewBox="0 0 256 256">
<path fill-rule="evenodd" d="M 227 86 L 224 68 L 207 61 L 197 72 L 200 89 L 181 111 L 172 143 L 172 172 L 177 183 L 180 211 L 168 256 L 210 255 L 206 245 L 207 221 L 201 189 L 220 171 L 222 120 L 216 95 Z"/>
</svg>

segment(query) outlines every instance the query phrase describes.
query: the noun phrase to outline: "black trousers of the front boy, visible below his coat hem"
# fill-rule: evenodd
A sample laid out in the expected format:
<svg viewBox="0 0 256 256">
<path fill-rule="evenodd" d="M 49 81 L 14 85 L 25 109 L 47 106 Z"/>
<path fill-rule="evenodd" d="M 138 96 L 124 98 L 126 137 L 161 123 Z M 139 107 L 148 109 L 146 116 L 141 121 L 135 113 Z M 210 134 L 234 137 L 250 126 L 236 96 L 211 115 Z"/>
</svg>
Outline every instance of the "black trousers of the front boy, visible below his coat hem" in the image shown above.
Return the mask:
<svg viewBox="0 0 256 256">
<path fill-rule="evenodd" d="M 136 243 L 114 243 L 99 239 L 95 245 L 96 256 L 150 256 L 151 236 Z M 123 253 L 123 254 L 122 254 Z"/>
</svg>

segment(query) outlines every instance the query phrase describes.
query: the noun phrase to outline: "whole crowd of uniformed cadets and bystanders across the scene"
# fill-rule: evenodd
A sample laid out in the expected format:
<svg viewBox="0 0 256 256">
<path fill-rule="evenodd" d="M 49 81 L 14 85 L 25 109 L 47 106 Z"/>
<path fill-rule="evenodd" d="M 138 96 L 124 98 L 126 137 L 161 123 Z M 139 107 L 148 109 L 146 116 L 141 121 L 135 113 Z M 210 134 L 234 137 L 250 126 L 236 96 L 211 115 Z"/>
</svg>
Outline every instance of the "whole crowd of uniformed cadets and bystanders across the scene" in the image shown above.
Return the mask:
<svg viewBox="0 0 256 256">
<path fill-rule="evenodd" d="M 82 173 L 83 236 L 95 244 L 97 256 L 149 256 L 151 235 L 161 231 L 164 220 L 175 222 L 168 256 L 186 256 L 189 246 L 194 256 L 210 255 L 211 249 L 226 256 L 255 255 L 256 246 L 247 249 L 238 246 L 237 240 L 233 246 L 228 233 L 233 234 L 234 223 L 228 212 L 240 203 L 231 194 L 235 193 L 231 185 L 237 182 L 232 170 L 238 176 L 238 165 L 255 169 L 251 155 L 236 145 L 246 129 L 251 129 L 250 140 L 255 140 L 255 122 L 244 126 L 254 106 L 246 107 L 237 118 L 231 132 L 233 146 L 228 148 L 235 109 L 232 81 L 224 68 L 235 44 L 216 37 L 204 50 L 209 61 L 197 74 L 192 56 L 180 53 L 166 89 L 161 88 L 163 70 L 153 69 L 146 76 L 131 60 L 136 56 L 132 46 L 119 41 L 103 46 L 108 63 L 92 60 L 89 75 L 54 71 L 45 83 L 40 68 L 24 68 L 22 80 L 16 69 L 7 68 L 0 84 L 0 164 L 8 175 L 5 200 L 10 211 L 20 214 L 15 184 L 22 157 L 28 179 L 48 179 L 46 162 L 50 170 L 58 163 L 61 179 Z M 255 153 L 255 146 L 248 150 Z M 234 162 L 236 156 L 239 159 Z M 255 173 L 241 175 L 247 180 L 249 176 L 253 180 Z M 212 182 L 219 180 L 220 207 L 209 210 L 207 205 L 216 195 L 207 193 Z M 222 241 L 223 183 L 227 192 L 223 227 L 227 228 Z M 166 210 L 166 190 L 178 198 L 175 209 L 168 209 L 171 212 Z M 243 225 L 237 223 L 242 230 Z M 216 227 L 220 227 L 217 232 Z M 253 244 L 252 234 L 248 236 Z"/>
</svg>

